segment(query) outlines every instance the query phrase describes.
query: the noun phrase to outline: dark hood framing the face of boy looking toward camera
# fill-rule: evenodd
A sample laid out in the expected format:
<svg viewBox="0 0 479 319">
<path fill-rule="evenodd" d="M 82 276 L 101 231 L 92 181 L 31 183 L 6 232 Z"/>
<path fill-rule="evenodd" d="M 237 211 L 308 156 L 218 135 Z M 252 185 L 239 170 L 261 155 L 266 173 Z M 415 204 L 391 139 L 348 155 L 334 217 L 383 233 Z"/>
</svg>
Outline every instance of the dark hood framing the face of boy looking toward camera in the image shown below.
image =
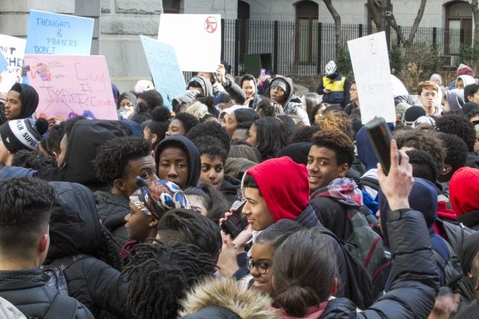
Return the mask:
<svg viewBox="0 0 479 319">
<path fill-rule="evenodd" d="M 155 150 L 155 163 L 156 171 L 158 174 L 158 162 L 160 159 L 160 153 L 165 150 L 165 148 L 174 146 L 180 147 L 188 155 L 188 179 L 187 184 L 184 186 L 184 189 L 188 187 L 196 187 L 199 180 L 199 172 L 202 167 L 201 160 L 199 159 L 199 152 L 197 147 L 193 144 L 189 138 L 186 138 L 183 135 L 172 135 L 165 140 L 162 140 L 160 144 L 156 147 Z"/>
</svg>

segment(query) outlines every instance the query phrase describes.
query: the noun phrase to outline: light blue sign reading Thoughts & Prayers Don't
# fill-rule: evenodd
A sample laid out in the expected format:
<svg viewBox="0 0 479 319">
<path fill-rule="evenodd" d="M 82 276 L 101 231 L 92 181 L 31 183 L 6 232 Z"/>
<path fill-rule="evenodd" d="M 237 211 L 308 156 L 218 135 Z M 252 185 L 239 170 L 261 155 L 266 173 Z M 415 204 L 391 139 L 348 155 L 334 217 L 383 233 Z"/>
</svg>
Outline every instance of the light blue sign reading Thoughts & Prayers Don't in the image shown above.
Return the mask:
<svg viewBox="0 0 479 319">
<path fill-rule="evenodd" d="M 25 52 L 49 55 L 89 55 L 92 18 L 31 10 Z"/>
</svg>

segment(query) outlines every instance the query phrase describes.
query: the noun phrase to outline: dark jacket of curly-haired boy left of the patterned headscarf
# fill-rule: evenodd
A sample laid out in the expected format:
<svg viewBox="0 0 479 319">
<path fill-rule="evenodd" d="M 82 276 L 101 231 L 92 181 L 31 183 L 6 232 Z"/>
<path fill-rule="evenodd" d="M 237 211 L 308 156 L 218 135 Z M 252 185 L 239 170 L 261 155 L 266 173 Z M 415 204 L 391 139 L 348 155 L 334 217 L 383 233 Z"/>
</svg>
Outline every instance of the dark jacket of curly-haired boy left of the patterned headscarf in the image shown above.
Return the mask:
<svg viewBox="0 0 479 319">
<path fill-rule="evenodd" d="M 128 240 L 128 230 L 125 227 L 125 216 L 130 208 L 128 198 L 107 193 L 106 191 L 94 192 L 97 203 L 98 216 L 101 223 L 114 235 L 115 239 L 123 244 Z"/>
</svg>

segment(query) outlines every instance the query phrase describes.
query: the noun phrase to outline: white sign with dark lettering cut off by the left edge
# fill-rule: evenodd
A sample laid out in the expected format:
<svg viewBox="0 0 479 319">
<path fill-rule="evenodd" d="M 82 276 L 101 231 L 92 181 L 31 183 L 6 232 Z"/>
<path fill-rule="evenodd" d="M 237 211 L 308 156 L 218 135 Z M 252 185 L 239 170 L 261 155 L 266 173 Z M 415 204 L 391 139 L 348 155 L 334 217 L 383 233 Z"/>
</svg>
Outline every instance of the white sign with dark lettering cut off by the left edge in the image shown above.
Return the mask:
<svg viewBox="0 0 479 319">
<path fill-rule="evenodd" d="M 0 34 L 0 52 L 7 62 L 6 69 L 0 70 L 0 92 L 10 91 L 20 76 L 25 42 L 25 39 Z"/>
</svg>

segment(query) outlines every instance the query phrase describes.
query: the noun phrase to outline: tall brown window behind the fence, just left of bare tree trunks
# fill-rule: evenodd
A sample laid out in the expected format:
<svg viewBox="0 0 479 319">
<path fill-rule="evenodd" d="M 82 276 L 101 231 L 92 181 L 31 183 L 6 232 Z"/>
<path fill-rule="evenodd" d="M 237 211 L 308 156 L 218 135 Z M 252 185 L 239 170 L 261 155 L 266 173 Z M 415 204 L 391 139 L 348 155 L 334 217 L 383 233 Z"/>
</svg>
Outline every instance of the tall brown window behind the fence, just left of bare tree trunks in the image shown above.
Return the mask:
<svg viewBox="0 0 479 319">
<path fill-rule="evenodd" d="M 313 1 L 296 4 L 295 60 L 299 64 L 316 63 L 318 11 L 318 4 Z"/>
</svg>

